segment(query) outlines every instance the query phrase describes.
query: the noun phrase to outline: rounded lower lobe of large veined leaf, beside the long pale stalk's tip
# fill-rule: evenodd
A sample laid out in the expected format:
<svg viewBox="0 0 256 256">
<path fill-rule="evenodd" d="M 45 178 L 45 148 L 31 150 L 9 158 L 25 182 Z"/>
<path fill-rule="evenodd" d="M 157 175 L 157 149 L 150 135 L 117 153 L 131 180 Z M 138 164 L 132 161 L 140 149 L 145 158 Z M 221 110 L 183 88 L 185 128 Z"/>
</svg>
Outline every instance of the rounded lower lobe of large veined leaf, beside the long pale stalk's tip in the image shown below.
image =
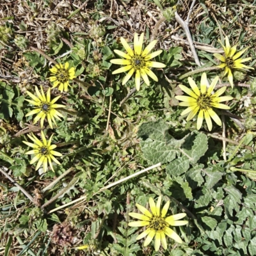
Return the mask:
<svg viewBox="0 0 256 256">
<path fill-rule="evenodd" d="M 178 176 L 189 169 L 188 157 L 182 156 L 174 159 L 170 164 L 166 165 L 166 173 Z"/>
</svg>

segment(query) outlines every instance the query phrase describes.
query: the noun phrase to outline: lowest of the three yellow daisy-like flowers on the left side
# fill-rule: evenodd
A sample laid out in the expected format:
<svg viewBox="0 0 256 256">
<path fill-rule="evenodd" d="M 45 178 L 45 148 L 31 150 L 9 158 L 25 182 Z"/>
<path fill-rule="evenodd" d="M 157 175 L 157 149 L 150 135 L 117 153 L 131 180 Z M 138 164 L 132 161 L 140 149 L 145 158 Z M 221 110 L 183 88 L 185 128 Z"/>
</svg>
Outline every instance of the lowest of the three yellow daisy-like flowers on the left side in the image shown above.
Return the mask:
<svg viewBox="0 0 256 256">
<path fill-rule="evenodd" d="M 22 141 L 29 147 L 33 148 L 33 150 L 26 152 L 26 154 L 35 154 L 35 157 L 33 157 L 33 159 L 30 161 L 30 164 L 33 164 L 36 161 L 38 161 L 38 163 L 36 164 L 36 170 L 38 170 L 39 167 L 43 164 L 44 172 L 46 172 L 47 165 L 49 162 L 51 170 L 54 172 L 52 167 L 52 161 L 54 161 L 56 164 L 61 164 L 54 156 L 62 156 L 62 154 L 53 150 L 54 148 L 57 147 L 56 145 L 51 145 L 53 134 L 48 142 L 45 139 L 43 131 L 41 131 L 41 136 L 42 141 L 38 140 L 38 138 L 36 138 L 36 136 L 33 133 L 32 136 L 28 134 L 28 138 L 32 140 L 33 143 L 30 143 L 28 141 Z"/>
</svg>

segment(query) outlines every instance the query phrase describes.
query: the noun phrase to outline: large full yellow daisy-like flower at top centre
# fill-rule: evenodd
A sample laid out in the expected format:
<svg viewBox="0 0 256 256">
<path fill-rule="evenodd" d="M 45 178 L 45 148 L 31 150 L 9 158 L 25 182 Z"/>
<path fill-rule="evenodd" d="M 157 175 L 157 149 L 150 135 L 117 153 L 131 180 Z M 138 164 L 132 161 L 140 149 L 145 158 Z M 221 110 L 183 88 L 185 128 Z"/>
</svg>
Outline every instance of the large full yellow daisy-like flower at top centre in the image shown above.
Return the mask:
<svg viewBox="0 0 256 256">
<path fill-rule="evenodd" d="M 116 69 L 112 74 L 119 74 L 122 72 L 129 71 L 124 77 L 122 84 L 124 85 L 131 78 L 132 74 L 135 72 L 135 85 L 136 89 L 140 90 L 140 77 L 143 78 L 144 82 L 149 85 L 148 76 L 150 76 L 154 81 L 158 81 L 157 76 L 150 70 L 150 67 L 153 68 L 164 68 L 166 65 L 160 62 L 151 61 L 152 58 L 161 54 L 162 50 L 149 52 L 154 48 L 157 43 L 157 40 L 152 41 L 143 51 L 143 37 L 144 33 L 141 34 L 140 38 L 138 34 L 134 34 L 134 50 L 132 51 L 131 47 L 124 38 L 121 37 L 121 43 L 124 45 L 127 53 L 122 51 L 114 50 L 116 54 L 125 58 L 124 59 L 114 59 L 110 62 L 117 65 L 126 65 L 125 67 Z"/>
</svg>

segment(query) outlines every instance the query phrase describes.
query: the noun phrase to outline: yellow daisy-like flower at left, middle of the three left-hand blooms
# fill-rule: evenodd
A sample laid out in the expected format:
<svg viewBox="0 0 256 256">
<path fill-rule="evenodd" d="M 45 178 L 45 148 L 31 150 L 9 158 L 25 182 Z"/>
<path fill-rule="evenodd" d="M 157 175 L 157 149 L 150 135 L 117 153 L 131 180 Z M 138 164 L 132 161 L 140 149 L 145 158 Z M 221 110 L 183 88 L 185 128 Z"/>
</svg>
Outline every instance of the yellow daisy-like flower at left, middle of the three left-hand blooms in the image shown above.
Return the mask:
<svg viewBox="0 0 256 256">
<path fill-rule="evenodd" d="M 54 122 L 54 124 L 56 125 L 54 118 L 61 120 L 59 116 L 63 117 L 63 115 L 61 115 L 61 113 L 59 111 L 57 111 L 56 108 L 65 108 L 65 105 L 54 104 L 58 99 L 60 99 L 61 95 L 52 99 L 52 101 L 51 101 L 51 89 L 50 88 L 47 90 L 46 97 L 45 97 L 44 90 L 43 90 L 42 86 L 41 86 L 41 93 L 39 92 L 37 87 L 35 87 L 35 90 L 36 90 L 36 95 L 38 97 L 33 95 L 33 93 L 27 91 L 28 95 L 33 100 L 27 100 L 27 99 L 26 100 L 28 102 L 30 102 L 31 104 L 35 105 L 37 108 L 30 111 L 26 116 L 38 114 L 35 117 L 33 124 L 38 122 L 38 120 L 41 118 L 41 122 L 40 122 L 41 127 L 43 127 L 45 117 L 47 117 L 49 126 L 52 129 L 52 122 Z"/>
</svg>

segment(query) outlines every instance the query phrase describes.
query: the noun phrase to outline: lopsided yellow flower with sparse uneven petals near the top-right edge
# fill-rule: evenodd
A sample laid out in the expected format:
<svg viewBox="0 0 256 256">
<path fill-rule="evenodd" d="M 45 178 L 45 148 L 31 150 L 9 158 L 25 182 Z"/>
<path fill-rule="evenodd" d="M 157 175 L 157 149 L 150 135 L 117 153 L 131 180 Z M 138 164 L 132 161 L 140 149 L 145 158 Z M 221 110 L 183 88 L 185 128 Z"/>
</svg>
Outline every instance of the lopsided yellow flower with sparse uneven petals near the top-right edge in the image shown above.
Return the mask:
<svg viewBox="0 0 256 256">
<path fill-rule="evenodd" d="M 218 53 L 215 53 L 213 55 L 218 60 L 223 62 L 220 65 L 218 65 L 217 67 L 225 68 L 224 76 L 226 76 L 228 74 L 228 81 L 229 81 L 230 85 L 233 88 L 234 83 L 233 83 L 233 74 L 232 74 L 232 72 L 233 72 L 234 69 L 244 70 L 246 68 L 251 68 L 251 69 L 254 69 L 254 68 L 248 67 L 248 66 L 242 64 L 245 61 L 252 60 L 251 57 L 244 58 L 244 59 L 239 58 L 244 52 L 247 51 L 248 48 L 245 48 L 242 51 L 239 51 L 239 52 L 236 53 L 237 45 L 234 45 L 233 47 L 230 47 L 229 40 L 228 40 L 227 36 L 225 38 L 225 41 L 226 41 L 226 45 L 224 46 L 221 43 L 221 41 L 219 40 L 219 42 L 220 42 L 220 44 L 221 44 L 221 46 L 222 46 L 222 48 L 223 48 L 223 50 L 225 52 L 225 56 L 222 56 L 221 54 L 218 54 Z"/>
</svg>

